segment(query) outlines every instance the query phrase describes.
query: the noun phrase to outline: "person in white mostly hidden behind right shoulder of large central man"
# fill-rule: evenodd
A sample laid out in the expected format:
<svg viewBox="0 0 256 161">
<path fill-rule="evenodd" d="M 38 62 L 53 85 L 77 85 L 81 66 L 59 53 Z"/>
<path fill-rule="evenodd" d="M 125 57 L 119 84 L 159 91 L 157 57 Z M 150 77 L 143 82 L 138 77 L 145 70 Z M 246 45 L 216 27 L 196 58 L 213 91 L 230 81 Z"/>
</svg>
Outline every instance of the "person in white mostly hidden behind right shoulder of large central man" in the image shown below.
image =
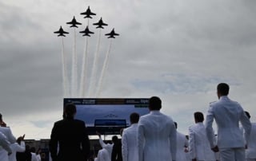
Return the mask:
<svg viewBox="0 0 256 161">
<path fill-rule="evenodd" d="M 175 128 L 178 128 L 178 124 L 174 122 Z M 186 135 L 177 131 L 177 153 L 176 153 L 176 161 L 188 161 L 186 158 L 186 152 L 189 147 L 189 142 L 186 139 Z"/>
</svg>

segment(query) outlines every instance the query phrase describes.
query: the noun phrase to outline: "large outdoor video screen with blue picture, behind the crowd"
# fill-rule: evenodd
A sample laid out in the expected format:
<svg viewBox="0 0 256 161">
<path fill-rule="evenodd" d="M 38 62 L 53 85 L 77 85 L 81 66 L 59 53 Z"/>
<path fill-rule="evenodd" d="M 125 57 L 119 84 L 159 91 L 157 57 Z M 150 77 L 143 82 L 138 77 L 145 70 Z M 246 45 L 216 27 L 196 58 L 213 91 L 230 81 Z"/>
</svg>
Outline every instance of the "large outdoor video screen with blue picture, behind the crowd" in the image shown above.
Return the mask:
<svg viewBox="0 0 256 161">
<path fill-rule="evenodd" d="M 130 126 L 130 114 L 140 116 L 149 113 L 147 98 L 64 98 L 64 105 L 73 103 L 77 107 L 75 119 L 83 120 L 93 135 L 96 131 L 117 134 L 120 128 Z"/>
</svg>

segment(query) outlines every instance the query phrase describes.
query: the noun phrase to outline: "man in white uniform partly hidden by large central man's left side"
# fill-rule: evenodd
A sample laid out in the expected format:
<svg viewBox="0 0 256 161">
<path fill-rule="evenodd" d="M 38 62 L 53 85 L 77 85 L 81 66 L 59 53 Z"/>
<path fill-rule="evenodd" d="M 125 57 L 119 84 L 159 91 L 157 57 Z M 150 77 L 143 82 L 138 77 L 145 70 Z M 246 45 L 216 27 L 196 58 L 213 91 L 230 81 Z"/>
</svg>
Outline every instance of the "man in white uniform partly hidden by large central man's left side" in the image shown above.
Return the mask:
<svg viewBox="0 0 256 161">
<path fill-rule="evenodd" d="M 122 161 L 138 161 L 138 120 L 139 114 L 130 114 L 130 127 L 122 132 Z"/>
</svg>

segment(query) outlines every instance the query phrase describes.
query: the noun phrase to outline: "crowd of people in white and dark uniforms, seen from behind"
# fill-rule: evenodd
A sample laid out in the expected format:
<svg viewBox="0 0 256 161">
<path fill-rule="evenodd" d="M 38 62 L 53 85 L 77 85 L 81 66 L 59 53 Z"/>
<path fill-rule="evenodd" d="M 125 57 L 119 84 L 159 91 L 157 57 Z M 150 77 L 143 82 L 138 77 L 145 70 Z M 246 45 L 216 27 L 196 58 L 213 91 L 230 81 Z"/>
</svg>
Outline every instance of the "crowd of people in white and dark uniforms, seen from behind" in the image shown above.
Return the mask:
<svg viewBox="0 0 256 161">
<path fill-rule="evenodd" d="M 97 132 L 102 149 L 94 160 L 256 161 L 256 123 L 250 122 L 250 113 L 244 111 L 238 102 L 230 100 L 229 90 L 228 84 L 218 84 L 218 101 L 210 103 L 206 121 L 202 112 L 194 112 L 194 125 L 188 128 L 188 137 L 178 132 L 178 124 L 170 116 L 160 112 L 162 100 L 152 96 L 149 100 L 150 113 L 145 116 L 131 113 L 130 127 L 122 129 L 121 139 L 114 135 L 110 142 L 104 142 Z M 75 105 L 66 104 L 63 120 L 54 123 L 49 143 L 53 161 L 89 159 L 90 140 L 86 124 L 75 120 L 75 114 Z M 214 132 L 214 121 L 217 132 Z M 10 155 L 15 153 L 10 143 L 21 147 L 22 143 L 16 143 L 18 141 L 8 134 L 8 128 L 2 129 L 0 157 L 4 151 L 6 160 L 8 155 L 10 160 Z M 19 139 L 22 141 L 24 136 Z"/>
</svg>

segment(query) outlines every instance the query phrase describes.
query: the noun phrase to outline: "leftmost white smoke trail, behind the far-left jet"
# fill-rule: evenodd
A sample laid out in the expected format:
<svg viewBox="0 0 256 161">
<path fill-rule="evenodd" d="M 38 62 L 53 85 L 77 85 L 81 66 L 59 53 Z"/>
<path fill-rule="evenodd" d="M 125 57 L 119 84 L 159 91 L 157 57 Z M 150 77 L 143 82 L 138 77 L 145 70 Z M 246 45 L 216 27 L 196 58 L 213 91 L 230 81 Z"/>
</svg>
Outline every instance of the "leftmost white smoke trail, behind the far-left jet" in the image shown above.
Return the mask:
<svg viewBox="0 0 256 161">
<path fill-rule="evenodd" d="M 68 90 L 68 79 L 67 79 L 67 73 L 66 73 L 66 57 L 64 53 L 64 40 L 62 37 L 62 80 L 63 80 L 63 96 L 69 96 L 70 92 Z"/>
</svg>

